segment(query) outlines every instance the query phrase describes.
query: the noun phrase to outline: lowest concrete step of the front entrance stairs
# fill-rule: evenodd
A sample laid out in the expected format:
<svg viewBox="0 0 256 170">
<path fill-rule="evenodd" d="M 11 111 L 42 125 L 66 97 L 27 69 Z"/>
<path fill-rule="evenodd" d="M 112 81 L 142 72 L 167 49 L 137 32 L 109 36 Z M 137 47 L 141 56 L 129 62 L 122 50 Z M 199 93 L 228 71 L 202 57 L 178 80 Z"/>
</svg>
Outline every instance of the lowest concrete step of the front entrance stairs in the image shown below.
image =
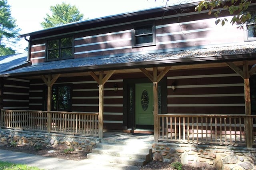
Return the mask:
<svg viewBox="0 0 256 170">
<path fill-rule="evenodd" d="M 117 163 L 117 164 L 126 164 L 126 165 L 133 165 L 133 166 L 144 166 L 147 161 L 144 159 L 135 159 L 129 157 L 118 157 L 118 156 L 110 156 L 110 155 L 102 155 L 96 153 L 89 153 L 87 154 L 88 159 L 93 160 L 104 160 L 105 162 Z"/>
</svg>

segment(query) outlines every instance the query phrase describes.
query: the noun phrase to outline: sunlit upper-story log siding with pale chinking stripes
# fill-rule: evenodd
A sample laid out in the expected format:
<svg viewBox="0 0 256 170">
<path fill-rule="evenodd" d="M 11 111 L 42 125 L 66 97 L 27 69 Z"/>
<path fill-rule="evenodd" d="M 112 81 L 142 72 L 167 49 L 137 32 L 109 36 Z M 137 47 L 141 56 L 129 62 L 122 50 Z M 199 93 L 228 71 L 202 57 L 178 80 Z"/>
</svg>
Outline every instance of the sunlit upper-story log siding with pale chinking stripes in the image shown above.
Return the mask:
<svg viewBox="0 0 256 170">
<path fill-rule="evenodd" d="M 145 53 L 145 51 L 162 49 L 174 51 L 206 48 L 216 44 L 226 46 L 228 43 L 244 42 L 243 30 L 231 24 L 216 26 L 215 18 L 199 20 L 201 15 L 204 14 L 195 14 L 190 18 L 180 17 L 179 20 L 176 20 L 176 17 L 156 20 L 156 45 L 148 47 L 132 48 L 133 24 L 79 32 L 74 34 L 74 58 L 131 52 Z M 196 18 L 198 20 L 194 21 Z M 44 62 L 45 57 L 46 40 L 32 40 L 32 64 Z"/>
</svg>

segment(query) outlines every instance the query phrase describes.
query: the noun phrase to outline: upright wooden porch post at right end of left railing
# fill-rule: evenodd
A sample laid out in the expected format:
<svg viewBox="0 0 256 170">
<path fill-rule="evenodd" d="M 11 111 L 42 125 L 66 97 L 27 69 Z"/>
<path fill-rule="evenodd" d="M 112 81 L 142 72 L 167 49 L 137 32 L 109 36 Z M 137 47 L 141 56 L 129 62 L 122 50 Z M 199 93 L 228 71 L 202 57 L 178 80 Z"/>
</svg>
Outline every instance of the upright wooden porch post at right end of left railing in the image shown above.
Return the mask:
<svg viewBox="0 0 256 170">
<path fill-rule="evenodd" d="M 99 75 L 99 138 L 103 138 L 103 92 L 104 92 L 104 86 L 103 86 L 103 71 L 100 71 Z"/>
</svg>

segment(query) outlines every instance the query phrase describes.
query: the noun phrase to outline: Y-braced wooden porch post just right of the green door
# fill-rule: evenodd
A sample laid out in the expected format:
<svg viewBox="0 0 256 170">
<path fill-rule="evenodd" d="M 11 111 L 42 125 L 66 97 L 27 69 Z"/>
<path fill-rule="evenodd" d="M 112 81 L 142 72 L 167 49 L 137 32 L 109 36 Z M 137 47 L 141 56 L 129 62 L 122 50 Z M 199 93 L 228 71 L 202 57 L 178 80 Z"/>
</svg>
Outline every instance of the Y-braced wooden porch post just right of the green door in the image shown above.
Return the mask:
<svg viewBox="0 0 256 170">
<path fill-rule="evenodd" d="M 154 101 L 154 142 L 158 142 L 159 122 L 158 122 L 158 82 L 168 73 L 171 66 L 164 67 L 164 69 L 157 74 L 157 67 L 153 67 L 153 75 L 151 75 L 145 68 L 140 68 L 148 79 L 153 82 L 153 101 Z"/>
</svg>

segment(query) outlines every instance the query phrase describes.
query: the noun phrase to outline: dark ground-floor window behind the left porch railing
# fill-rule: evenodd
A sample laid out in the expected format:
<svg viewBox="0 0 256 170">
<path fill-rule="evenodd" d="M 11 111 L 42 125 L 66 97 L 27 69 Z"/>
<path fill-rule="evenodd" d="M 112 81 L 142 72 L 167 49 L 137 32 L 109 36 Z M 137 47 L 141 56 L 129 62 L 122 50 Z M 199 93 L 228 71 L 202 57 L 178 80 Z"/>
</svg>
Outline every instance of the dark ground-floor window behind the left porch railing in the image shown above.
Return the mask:
<svg viewBox="0 0 256 170">
<path fill-rule="evenodd" d="M 71 87 L 52 87 L 52 111 L 71 111 Z"/>
</svg>

